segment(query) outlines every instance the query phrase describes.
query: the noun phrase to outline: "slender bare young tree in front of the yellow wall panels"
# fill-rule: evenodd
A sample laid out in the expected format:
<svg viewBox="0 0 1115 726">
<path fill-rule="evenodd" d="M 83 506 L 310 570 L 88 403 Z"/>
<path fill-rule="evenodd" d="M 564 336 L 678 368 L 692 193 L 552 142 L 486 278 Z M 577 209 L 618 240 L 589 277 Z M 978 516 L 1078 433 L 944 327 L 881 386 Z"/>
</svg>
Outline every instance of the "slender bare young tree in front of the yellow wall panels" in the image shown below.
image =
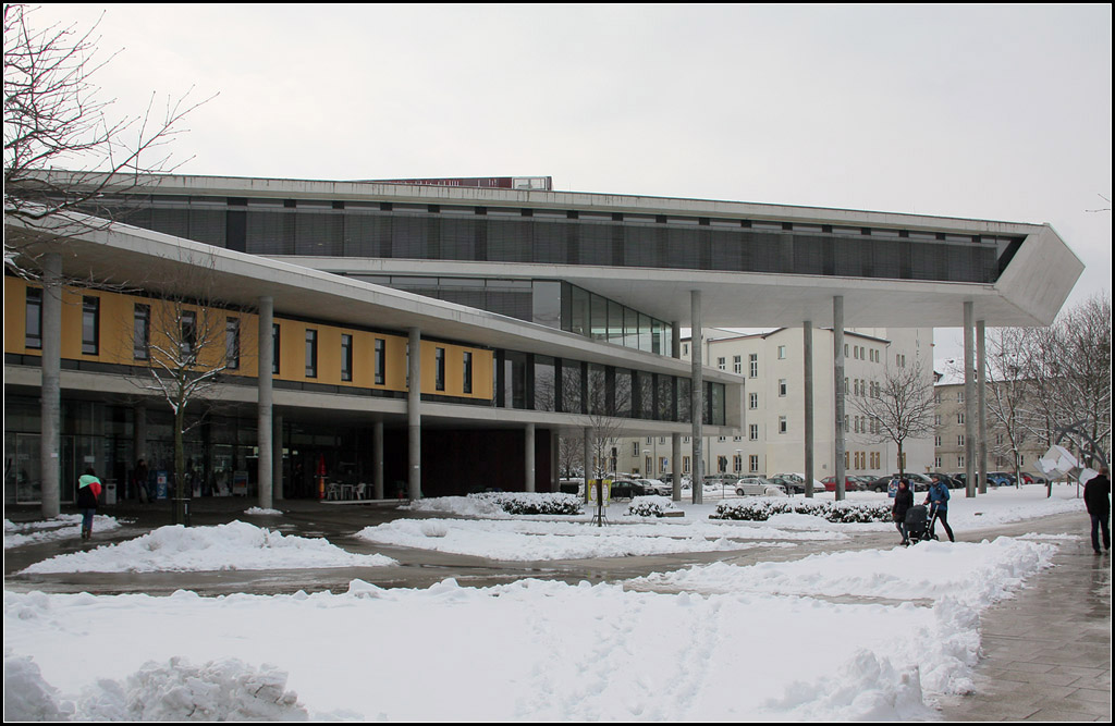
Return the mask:
<svg viewBox="0 0 1115 726">
<path fill-rule="evenodd" d="M 254 358 L 249 311 L 221 300 L 213 282 L 213 258 L 175 279 L 182 293 L 137 306 L 132 336 L 135 357 L 145 360 L 149 376 L 139 387 L 162 398 L 174 415 L 173 522 L 188 524 L 184 436 L 203 415 L 187 412 L 211 406 L 225 372 Z"/>
</svg>

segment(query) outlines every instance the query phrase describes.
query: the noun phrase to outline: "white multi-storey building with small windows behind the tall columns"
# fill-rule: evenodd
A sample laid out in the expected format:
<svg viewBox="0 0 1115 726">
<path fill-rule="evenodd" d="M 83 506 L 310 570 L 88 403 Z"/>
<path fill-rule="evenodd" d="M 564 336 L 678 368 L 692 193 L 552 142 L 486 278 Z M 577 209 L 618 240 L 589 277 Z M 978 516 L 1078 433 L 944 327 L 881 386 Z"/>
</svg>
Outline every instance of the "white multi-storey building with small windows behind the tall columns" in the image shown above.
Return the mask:
<svg viewBox="0 0 1115 726">
<path fill-rule="evenodd" d="M 898 446 L 872 434 L 867 416 L 856 408 L 882 380 L 888 367 L 920 366 L 925 386 L 933 385 L 932 328 L 856 328 L 844 333 L 845 472 L 884 476 L 898 471 Z M 705 330 L 704 360 L 738 375 L 743 386 L 743 425 L 735 435 L 706 437 L 706 474 L 765 476 L 805 471 L 805 340 L 801 328 L 753 335 Z M 813 330 L 814 467 L 821 480 L 835 473 L 835 394 L 833 331 Z M 681 356 L 690 357 L 682 339 Z M 905 470 L 931 471 L 932 436 L 906 441 Z M 683 447 L 688 444 L 682 439 Z M 670 471 L 668 437 L 626 439 L 618 447 L 617 470 L 657 477 Z M 687 451 L 688 449 L 683 449 Z M 682 457 L 682 473 L 692 462 Z"/>
</svg>

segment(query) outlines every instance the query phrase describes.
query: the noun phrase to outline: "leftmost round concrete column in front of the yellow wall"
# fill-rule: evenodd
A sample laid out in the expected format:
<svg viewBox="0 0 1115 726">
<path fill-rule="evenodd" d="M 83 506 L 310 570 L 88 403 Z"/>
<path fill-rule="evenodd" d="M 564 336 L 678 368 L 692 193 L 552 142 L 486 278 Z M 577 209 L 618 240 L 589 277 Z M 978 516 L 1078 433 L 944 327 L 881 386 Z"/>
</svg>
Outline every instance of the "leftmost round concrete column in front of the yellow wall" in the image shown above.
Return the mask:
<svg viewBox="0 0 1115 726">
<path fill-rule="evenodd" d="M 61 513 L 61 409 L 62 409 L 62 258 L 42 255 L 42 385 L 39 470 L 42 475 L 42 516 Z M 99 472 L 101 476 L 106 472 Z"/>
</svg>

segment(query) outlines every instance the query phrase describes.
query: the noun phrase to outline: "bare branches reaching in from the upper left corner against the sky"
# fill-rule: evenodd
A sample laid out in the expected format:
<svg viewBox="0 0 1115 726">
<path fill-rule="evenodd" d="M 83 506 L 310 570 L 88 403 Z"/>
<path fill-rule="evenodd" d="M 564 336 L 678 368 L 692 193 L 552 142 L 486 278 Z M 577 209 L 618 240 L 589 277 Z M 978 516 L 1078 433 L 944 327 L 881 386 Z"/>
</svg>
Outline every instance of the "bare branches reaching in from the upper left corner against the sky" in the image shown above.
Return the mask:
<svg viewBox="0 0 1115 726">
<path fill-rule="evenodd" d="M 185 130 L 183 118 L 210 100 L 194 103 L 187 91 L 157 109 L 152 96 L 143 113 L 113 117 L 113 101 L 97 98 L 93 80 L 115 57 L 97 59 L 97 25 L 36 29 L 32 14 L 22 4 L 3 10 L 4 215 L 28 226 L 71 210 L 103 212 L 96 202 L 106 192 L 172 171 L 167 143 Z M 57 224 L 51 229 L 58 233 Z M 35 265 L 19 262 L 20 252 L 18 240 L 6 235 L 6 265 L 33 277 Z"/>
</svg>

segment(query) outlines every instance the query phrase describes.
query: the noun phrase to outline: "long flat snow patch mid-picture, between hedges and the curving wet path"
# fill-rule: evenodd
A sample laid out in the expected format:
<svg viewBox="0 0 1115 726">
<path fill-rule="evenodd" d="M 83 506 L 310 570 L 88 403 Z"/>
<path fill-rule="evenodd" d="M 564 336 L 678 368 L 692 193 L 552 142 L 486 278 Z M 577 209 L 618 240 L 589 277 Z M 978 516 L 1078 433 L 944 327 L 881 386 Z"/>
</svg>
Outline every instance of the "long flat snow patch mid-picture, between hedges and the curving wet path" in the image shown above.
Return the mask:
<svg viewBox="0 0 1115 726">
<path fill-rule="evenodd" d="M 582 522 L 502 520 L 395 520 L 365 527 L 357 536 L 379 544 L 517 562 L 714 552 L 756 546 L 755 543 L 736 541 L 741 539 L 736 531 L 709 525 L 601 527 Z M 769 542 L 764 544 L 772 545 Z M 774 546 L 793 545 L 782 543 Z"/>
</svg>

